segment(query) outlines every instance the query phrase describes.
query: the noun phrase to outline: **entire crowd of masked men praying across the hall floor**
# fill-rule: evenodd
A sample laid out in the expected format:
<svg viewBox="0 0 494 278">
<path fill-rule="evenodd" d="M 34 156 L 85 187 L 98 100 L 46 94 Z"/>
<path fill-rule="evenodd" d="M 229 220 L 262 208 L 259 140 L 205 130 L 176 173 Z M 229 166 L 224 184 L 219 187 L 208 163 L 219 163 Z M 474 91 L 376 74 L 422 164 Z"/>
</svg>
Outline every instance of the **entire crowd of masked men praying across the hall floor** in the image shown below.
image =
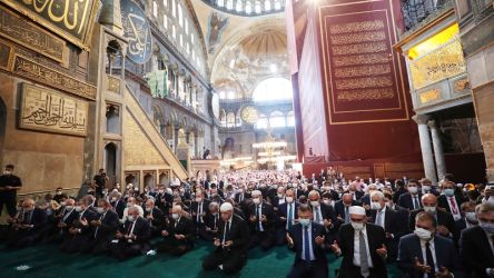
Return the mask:
<svg viewBox="0 0 494 278">
<path fill-rule="evenodd" d="M 286 171 L 228 171 L 170 185 L 106 187 L 105 171 L 86 196 L 58 188 L 34 201 L 18 198 L 13 166 L 0 176 L 8 249 L 55 242 L 61 252 L 119 260 L 157 252 L 182 256 L 197 241 L 214 245 L 205 270 L 234 274 L 249 250 L 287 246 L 287 277 L 494 277 L 494 185 L 423 179 L 346 178 L 333 168 L 304 177 Z M 12 196 L 14 198 L 12 205 Z"/>
</svg>

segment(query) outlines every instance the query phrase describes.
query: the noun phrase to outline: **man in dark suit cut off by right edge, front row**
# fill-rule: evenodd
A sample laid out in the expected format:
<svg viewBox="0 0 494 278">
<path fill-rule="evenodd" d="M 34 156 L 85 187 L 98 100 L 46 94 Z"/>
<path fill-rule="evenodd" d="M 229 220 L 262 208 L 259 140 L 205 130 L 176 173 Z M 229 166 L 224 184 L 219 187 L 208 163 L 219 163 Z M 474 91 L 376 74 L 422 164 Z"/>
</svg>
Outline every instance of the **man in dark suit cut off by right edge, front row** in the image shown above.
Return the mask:
<svg viewBox="0 0 494 278">
<path fill-rule="evenodd" d="M 475 212 L 480 225 L 462 232 L 460 258 L 471 277 L 494 277 L 494 205 L 481 203 Z"/>
</svg>

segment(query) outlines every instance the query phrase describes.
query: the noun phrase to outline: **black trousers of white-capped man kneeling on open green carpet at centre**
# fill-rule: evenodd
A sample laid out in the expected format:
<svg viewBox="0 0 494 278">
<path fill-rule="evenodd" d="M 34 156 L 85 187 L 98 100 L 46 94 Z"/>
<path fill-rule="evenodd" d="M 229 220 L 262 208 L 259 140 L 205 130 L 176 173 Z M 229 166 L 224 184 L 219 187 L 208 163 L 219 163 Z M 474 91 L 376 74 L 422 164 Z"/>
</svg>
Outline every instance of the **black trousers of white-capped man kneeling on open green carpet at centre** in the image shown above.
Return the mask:
<svg viewBox="0 0 494 278">
<path fill-rule="evenodd" d="M 244 267 L 246 258 L 247 256 L 243 252 L 226 251 L 218 248 L 202 260 L 202 268 L 215 270 L 218 266 L 223 266 L 225 274 L 235 274 Z"/>
</svg>

